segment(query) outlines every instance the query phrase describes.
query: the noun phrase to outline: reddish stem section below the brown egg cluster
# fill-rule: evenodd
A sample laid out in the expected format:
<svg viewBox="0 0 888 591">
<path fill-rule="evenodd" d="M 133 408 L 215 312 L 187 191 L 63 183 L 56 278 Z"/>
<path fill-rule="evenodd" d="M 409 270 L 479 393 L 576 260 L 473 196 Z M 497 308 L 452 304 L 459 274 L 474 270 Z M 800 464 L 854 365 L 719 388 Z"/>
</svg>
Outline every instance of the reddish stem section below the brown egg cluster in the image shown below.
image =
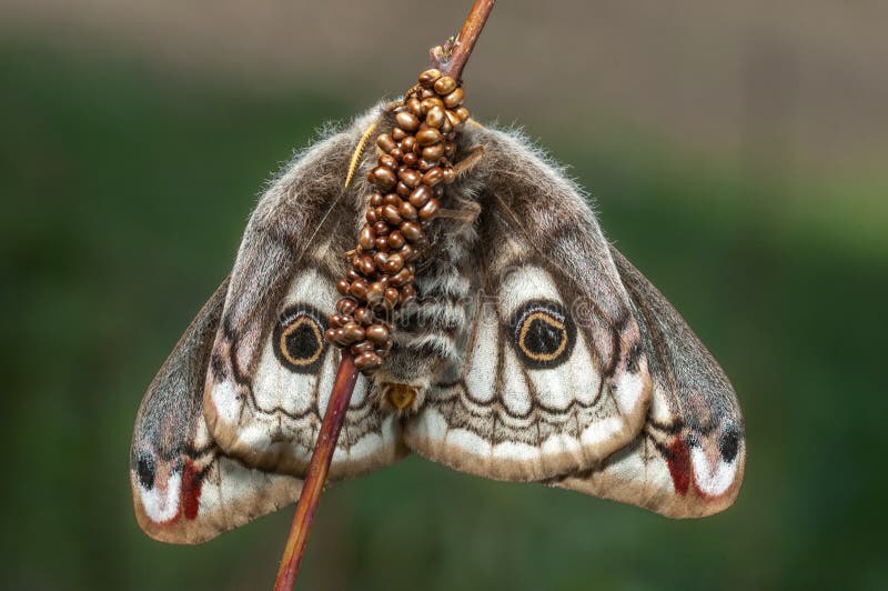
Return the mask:
<svg viewBox="0 0 888 591">
<path fill-rule="evenodd" d="M 352 352 L 346 348 L 342 350 L 342 361 L 336 372 L 336 381 L 333 382 L 333 391 L 330 394 L 324 421 L 317 433 L 317 443 L 314 445 L 302 494 L 296 503 L 296 514 L 290 527 L 290 537 L 286 540 L 284 555 L 278 570 L 278 580 L 274 582 L 275 591 L 290 591 L 296 582 L 299 565 L 302 562 L 302 554 L 305 552 L 305 543 L 309 541 L 317 501 L 324 490 L 330 461 L 333 459 L 333 450 L 336 449 L 342 423 L 345 421 L 345 411 L 349 410 L 349 401 L 352 399 L 355 381 L 357 381 L 357 369 L 354 367 Z"/>
</svg>

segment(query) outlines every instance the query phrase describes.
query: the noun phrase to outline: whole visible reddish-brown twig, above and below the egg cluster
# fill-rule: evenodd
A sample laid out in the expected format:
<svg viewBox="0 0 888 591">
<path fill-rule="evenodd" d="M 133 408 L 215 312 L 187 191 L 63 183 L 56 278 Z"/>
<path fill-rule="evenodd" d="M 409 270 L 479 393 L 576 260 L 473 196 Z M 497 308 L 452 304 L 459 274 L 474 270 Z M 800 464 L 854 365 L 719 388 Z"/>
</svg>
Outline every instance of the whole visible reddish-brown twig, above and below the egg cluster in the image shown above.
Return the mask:
<svg viewBox="0 0 888 591">
<path fill-rule="evenodd" d="M 440 69 L 456 80 L 461 78 L 463 68 L 472 54 L 475 41 L 477 41 L 481 31 L 484 29 L 484 23 L 493 9 L 493 4 L 494 0 L 475 0 L 456 41 L 445 43 L 445 46 L 440 46 L 430 51 L 433 68 Z M 302 494 L 296 503 L 296 514 L 293 517 L 290 537 L 286 540 L 284 555 L 281 559 L 281 567 L 278 570 L 278 579 L 274 583 L 275 591 L 289 591 L 293 589 L 296 582 L 299 567 L 309 540 L 309 531 L 314 521 L 314 513 L 317 510 L 317 502 L 326 482 L 330 462 L 333 459 L 333 451 L 336 449 L 336 441 L 345 420 L 345 411 L 349 410 L 349 402 L 352 399 L 356 380 L 357 369 L 354 365 L 352 353 L 346 347 L 342 350 L 342 361 L 336 373 L 336 381 L 333 384 L 330 402 L 327 403 L 317 442 L 309 464 L 309 471 L 305 474 Z"/>
</svg>

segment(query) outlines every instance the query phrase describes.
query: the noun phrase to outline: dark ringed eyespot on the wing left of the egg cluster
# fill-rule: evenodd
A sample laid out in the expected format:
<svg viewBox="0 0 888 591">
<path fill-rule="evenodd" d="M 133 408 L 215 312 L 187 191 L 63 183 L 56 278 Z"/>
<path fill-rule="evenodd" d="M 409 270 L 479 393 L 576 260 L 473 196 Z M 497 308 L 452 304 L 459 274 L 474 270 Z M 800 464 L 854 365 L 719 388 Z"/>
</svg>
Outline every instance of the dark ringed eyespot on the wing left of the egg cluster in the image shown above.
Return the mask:
<svg viewBox="0 0 888 591">
<path fill-rule="evenodd" d="M 314 373 L 321 367 L 326 342 L 324 315 L 316 309 L 299 304 L 281 314 L 272 333 L 274 354 L 286 369 L 296 373 Z"/>
</svg>

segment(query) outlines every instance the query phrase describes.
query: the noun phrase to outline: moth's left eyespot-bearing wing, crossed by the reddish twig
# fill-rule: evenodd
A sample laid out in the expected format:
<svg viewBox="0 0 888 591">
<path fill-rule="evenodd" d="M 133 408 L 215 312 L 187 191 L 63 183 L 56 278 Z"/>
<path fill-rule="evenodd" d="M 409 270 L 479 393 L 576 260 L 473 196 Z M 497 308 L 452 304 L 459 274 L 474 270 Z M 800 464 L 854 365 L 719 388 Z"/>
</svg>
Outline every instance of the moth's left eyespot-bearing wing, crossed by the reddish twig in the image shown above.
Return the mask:
<svg viewBox="0 0 888 591">
<path fill-rule="evenodd" d="M 301 477 L 340 361 L 323 334 L 364 196 L 343 180 L 380 108 L 306 150 L 260 198 L 232 271 L 203 398 L 213 439 L 229 455 Z M 359 170 L 360 176 L 360 170 Z M 359 183 L 360 184 L 360 183 Z M 363 186 L 362 186 L 363 188 Z M 360 378 L 331 463 L 332 479 L 404 455 L 400 423 Z"/>
</svg>

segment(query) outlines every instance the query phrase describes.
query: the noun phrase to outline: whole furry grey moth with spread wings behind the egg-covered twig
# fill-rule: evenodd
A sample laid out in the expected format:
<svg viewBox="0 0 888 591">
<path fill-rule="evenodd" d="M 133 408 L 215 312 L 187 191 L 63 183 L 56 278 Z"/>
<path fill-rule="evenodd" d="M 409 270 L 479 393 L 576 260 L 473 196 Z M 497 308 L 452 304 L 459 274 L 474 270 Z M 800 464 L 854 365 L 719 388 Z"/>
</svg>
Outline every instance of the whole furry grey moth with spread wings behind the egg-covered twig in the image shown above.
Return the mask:
<svg viewBox="0 0 888 591">
<path fill-rule="evenodd" d="M 366 140 L 392 126 L 377 106 L 284 167 L 148 388 L 130 481 L 152 538 L 203 542 L 299 498 L 340 361 L 326 318 L 372 193 Z M 420 297 L 359 378 L 330 478 L 415 452 L 673 518 L 727 508 L 746 447 L 718 363 L 548 157 L 477 123 L 458 141 Z"/>
</svg>

